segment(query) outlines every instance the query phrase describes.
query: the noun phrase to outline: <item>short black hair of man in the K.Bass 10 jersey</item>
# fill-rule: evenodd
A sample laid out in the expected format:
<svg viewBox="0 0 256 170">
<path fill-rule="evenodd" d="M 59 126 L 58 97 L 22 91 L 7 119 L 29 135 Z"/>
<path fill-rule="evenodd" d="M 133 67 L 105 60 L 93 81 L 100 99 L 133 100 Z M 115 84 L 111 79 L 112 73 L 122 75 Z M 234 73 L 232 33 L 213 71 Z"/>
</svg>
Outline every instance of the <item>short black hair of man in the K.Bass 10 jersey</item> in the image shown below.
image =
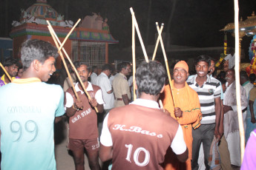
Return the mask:
<svg viewBox="0 0 256 170">
<path fill-rule="evenodd" d="M 136 70 L 135 79 L 139 94 L 159 95 L 165 84 L 166 71 L 158 61 L 143 61 Z"/>
</svg>

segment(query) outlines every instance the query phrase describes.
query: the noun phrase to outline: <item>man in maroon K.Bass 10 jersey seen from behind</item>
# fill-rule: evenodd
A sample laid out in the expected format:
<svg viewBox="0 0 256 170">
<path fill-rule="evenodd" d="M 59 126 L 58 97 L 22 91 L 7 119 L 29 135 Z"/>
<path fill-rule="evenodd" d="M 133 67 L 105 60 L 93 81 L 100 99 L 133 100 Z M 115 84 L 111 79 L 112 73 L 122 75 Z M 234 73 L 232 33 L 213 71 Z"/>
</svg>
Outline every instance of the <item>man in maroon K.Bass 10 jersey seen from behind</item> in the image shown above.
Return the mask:
<svg viewBox="0 0 256 170">
<path fill-rule="evenodd" d="M 168 147 L 185 162 L 188 149 L 183 130 L 166 115 L 157 99 L 163 92 L 166 72 L 157 61 L 145 61 L 136 75 L 140 98 L 130 105 L 112 109 L 103 122 L 99 157 L 111 160 L 112 169 L 163 169 Z"/>
</svg>

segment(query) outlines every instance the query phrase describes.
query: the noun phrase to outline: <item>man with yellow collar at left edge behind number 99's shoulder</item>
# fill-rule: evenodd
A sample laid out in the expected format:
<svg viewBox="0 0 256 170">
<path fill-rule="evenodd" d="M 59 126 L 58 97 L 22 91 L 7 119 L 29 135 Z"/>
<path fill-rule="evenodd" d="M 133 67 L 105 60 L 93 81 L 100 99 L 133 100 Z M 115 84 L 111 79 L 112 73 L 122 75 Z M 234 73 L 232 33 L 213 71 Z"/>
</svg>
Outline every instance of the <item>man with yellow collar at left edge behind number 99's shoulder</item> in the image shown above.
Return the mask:
<svg viewBox="0 0 256 170">
<path fill-rule="evenodd" d="M 7 71 L 7 73 L 10 75 L 12 80 L 16 78 L 18 74 L 19 69 L 19 61 L 14 58 L 7 58 L 4 61 L 4 69 Z M 11 80 L 7 77 L 7 75 L 2 75 L 0 78 L 0 87 L 4 86 L 5 84 L 9 84 Z"/>
</svg>

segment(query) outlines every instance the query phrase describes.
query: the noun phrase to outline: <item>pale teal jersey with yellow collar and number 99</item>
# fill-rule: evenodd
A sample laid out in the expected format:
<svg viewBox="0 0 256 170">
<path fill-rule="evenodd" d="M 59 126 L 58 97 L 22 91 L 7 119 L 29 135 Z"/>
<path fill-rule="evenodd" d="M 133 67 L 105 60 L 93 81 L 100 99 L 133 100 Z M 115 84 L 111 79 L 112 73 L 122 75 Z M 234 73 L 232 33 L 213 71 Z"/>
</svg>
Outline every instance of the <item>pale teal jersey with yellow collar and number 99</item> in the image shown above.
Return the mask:
<svg viewBox="0 0 256 170">
<path fill-rule="evenodd" d="M 65 113 L 61 86 L 27 78 L 0 93 L 1 169 L 56 169 L 53 123 Z"/>
</svg>

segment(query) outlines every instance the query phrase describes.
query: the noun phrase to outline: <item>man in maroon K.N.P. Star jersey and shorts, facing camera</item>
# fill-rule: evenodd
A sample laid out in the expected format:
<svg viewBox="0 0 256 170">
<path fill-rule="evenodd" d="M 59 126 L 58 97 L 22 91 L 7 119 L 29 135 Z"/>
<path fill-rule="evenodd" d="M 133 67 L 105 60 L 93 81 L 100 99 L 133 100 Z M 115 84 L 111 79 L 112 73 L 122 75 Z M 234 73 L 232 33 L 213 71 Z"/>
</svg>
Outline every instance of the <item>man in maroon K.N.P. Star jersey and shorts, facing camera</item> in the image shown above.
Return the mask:
<svg viewBox="0 0 256 170">
<path fill-rule="evenodd" d="M 81 101 L 76 100 L 73 89 L 70 87 L 65 93 L 67 115 L 69 117 L 69 144 L 68 148 L 73 152 L 76 170 L 85 169 L 84 167 L 84 149 L 88 153 L 89 166 L 91 169 L 100 169 L 99 167 L 99 133 L 97 129 L 97 115 L 93 107 L 103 112 L 102 91 L 99 86 L 88 82 L 91 74 L 91 68 L 82 62 L 76 62 L 75 67 L 82 83 L 91 100 L 82 90 L 82 86 L 76 83 L 75 89 Z"/>
</svg>

